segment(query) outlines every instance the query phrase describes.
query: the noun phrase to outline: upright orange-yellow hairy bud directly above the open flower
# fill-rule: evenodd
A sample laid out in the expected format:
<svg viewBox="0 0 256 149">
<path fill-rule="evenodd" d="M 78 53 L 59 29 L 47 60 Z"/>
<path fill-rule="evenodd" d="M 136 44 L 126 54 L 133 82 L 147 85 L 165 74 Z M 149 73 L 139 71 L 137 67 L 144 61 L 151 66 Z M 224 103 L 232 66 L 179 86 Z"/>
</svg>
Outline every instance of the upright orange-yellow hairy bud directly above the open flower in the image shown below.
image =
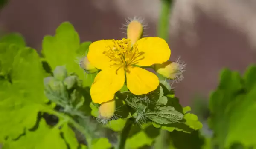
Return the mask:
<svg viewBox="0 0 256 149">
<path fill-rule="evenodd" d="M 127 38 L 131 40 L 131 44 L 136 43 L 143 35 L 143 25 L 137 21 L 131 21 L 127 26 Z"/>
</svg>

